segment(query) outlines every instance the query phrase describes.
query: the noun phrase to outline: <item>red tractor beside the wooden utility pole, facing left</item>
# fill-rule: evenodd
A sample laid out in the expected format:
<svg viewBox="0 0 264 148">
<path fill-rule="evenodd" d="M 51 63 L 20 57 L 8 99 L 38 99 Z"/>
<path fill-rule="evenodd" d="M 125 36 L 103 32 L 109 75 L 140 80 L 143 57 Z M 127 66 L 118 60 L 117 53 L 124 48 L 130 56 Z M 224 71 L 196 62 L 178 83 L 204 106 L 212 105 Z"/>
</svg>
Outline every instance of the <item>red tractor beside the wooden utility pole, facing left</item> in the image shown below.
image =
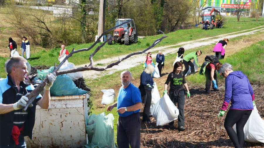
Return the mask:
<svg viewBox="0 0 264 148">
<path fill-rule="evenodd" d="M 124 41 L 125 45 L 136 43 L 138 41 L 138 33 L 136 31 L 136 26 L 133 19 L 130 18 L 116 19 L 116 25 L 122 24 L 128 20 L 132 20 L 132 21 L 114 30 L 114 35 L 112 40 L 107 42 L 109 45 L 113 44 L 112 41 L 116 43 L 121 43 Z M 110 37 L 112 37 L 112 35 L 108 34 L 107 38 Z"/>
</svg>

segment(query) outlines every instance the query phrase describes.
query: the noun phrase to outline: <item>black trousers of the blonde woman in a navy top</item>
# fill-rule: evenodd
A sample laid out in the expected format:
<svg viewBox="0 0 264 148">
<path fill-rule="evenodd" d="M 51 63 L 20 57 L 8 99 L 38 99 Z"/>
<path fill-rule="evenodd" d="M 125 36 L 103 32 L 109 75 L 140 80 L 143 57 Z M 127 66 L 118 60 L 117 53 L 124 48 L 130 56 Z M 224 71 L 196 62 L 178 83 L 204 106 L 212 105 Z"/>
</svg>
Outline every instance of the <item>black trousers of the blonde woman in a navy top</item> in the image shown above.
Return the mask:
<svg viewBox="0 0 264 148">
<path fill-rule="evenodd" d="M 151 90 L 146 90 L 146 103 L 143 109 L 143 117 L 142 117 L 142 121 L 150 121 L 149 115 L 150 115 L 150 105 L 151 105 Z"/>
</svg>

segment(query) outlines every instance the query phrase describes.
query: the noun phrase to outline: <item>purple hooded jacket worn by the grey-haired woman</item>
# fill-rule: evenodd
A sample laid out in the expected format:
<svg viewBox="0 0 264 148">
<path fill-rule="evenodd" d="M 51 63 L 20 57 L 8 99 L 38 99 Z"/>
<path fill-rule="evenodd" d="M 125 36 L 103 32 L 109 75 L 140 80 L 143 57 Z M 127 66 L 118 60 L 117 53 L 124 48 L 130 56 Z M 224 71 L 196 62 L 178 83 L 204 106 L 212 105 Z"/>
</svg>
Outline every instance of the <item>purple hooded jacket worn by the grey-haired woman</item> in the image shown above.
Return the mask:
<svg viewBox="0 0 264 148">
<path fill-rule="evenodd" d="M 241 71 L 229 73 L 226 77 L 226 90 L 224 103 L 221 110 L 226 111 L 229 102 L 229 109 L 253 110 L 254 92 L 248 78 Z"/>
</svg>

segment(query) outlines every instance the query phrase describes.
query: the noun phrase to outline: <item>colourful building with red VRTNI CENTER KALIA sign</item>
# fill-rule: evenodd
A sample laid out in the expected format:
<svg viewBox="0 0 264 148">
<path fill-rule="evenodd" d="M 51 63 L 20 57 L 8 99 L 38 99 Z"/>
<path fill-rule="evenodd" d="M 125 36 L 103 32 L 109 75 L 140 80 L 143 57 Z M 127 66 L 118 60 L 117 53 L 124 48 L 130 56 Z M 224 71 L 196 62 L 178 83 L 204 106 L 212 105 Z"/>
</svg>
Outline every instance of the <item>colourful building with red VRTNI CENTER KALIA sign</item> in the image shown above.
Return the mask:
<svg viewBox="0 0 264 148">
<path fill-rule="evenodd" d="M 242 16 L 249 16 L 251 3 L 253 1 L 258 2 L 258 0 L 240 0 L 240 4 L 238 4 L 238 1 L 239 0 L 200 0 L 200 6 L 204 6 L 202 8 L 204 14 L 210 13 L 212 8 L 215 8 L 220 11 L 221 15 L 233 16 L 236 15 L 235 9 L 240 7 L 243 8 Z"/>
</svg>

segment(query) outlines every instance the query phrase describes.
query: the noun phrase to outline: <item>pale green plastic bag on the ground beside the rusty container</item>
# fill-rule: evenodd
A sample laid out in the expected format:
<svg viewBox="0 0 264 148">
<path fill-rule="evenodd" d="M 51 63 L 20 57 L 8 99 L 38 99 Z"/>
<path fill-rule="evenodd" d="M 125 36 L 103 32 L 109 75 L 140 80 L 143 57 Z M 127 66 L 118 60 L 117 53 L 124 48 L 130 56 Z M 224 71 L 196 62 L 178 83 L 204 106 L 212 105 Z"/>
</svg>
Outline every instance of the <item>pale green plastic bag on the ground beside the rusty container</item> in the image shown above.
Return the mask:
<svg viewBox="0 0 264 148">
<path fill-rule="evenodd" d="M 115 148 L 114 138 L 114 116 L 109 113 L 99 115 L 92 114 L 86 121 L 86 132 L 90 144 L 84 145 L 84 148 Z M 92 136 L 92 140 L 89 137 Z"/>
</svg>

